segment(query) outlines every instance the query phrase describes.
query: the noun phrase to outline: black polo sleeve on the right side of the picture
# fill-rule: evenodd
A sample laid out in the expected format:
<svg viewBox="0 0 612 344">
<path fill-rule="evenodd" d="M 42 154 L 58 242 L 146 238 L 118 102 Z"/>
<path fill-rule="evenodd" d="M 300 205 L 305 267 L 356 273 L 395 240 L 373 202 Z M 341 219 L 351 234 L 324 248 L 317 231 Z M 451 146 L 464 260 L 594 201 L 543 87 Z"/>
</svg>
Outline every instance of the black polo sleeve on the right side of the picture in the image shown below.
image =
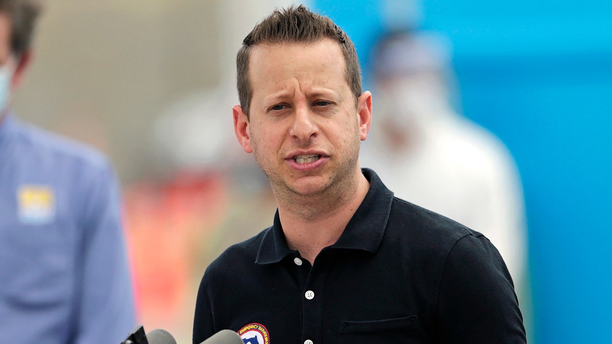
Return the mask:
<svg viewBox="0 0 612 344">
<path fill-rule="evenodd" d="M 455 243 L 442 270 L 438 297 L 441 343 L 526 343 L 512 278 L 484 236 Z"/>
</svg>

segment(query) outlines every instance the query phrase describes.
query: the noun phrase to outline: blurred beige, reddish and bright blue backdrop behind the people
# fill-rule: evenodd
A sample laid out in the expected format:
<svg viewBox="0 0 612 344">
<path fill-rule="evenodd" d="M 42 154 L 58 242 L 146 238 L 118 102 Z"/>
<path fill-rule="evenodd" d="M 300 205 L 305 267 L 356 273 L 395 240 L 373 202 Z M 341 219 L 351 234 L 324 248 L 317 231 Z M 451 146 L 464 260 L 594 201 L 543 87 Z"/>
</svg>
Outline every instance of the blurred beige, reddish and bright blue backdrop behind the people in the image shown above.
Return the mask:
<svg viewBox="0 0 612 344">
<path fill-rule="evenodd" d="M 291 3 L 47 2 L 15 110 L 116 165 L 147 331 L 162 327 L 190 342 L 207 264 L 272 222 L 269 185 L 233 134 L 234 56 L 256 21 Z M 348 32 L 373 91 L 383 86 L 372 51 L 389 32 L 442 42 L 425 61 L 441 61 L 452 76 L 448 109 L 486 132 L 515 173 L 517 236 L 491 241 L 523 257 L 515 282 L 530 342 L 612 342 L 612 2 L 304 3 Z M 381 118 L 389 107 L 381 100 Z M 364 155 L 376 154 L 374 139 Z M 392 190 L 398 179 L 383 176 Z"/>
</svg>

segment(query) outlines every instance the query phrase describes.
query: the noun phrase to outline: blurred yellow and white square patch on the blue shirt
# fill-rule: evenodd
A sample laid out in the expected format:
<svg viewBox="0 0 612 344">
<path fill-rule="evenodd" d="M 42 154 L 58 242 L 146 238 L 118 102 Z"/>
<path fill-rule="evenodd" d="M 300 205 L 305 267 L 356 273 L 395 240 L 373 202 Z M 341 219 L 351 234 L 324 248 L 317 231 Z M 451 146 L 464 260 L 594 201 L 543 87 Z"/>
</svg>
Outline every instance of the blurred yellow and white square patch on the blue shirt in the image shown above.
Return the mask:
<svg viewBox="0 0 612 344">
<path fill-rule="evenodd" d="M 17 190 L 19 220 L 28 225 L 43 225 L 55 218 L 55 195 L 47 185 L 21 185 Z"/>
</svg>

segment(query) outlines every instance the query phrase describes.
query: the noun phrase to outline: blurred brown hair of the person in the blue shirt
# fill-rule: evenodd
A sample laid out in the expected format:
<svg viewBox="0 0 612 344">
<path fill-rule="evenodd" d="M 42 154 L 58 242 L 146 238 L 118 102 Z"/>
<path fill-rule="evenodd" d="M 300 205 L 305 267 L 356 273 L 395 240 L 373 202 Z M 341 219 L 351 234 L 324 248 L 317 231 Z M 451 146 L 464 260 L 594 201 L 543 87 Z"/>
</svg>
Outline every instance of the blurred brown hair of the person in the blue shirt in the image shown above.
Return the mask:
<svg viewBox="0 0 612 344">
<path fill-rule="evenodd" d="M 0 0 L 0 13 L 8 15 L 11 21 L 10 50 L 13 54 L 20 56 L 31 47 L 36 20 L 41 11 L 40 1 Z"/>
</svg>

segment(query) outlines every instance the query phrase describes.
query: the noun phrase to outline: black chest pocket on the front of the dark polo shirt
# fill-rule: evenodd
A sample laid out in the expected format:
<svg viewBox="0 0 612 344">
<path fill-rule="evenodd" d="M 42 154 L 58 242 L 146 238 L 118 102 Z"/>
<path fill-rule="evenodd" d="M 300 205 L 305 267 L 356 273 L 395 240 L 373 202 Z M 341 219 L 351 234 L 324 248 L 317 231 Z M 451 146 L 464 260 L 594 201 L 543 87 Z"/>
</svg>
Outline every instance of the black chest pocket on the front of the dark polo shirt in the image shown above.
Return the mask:
<svg viewBox="0 0 612 344">
<path fill-rule="evenodd" d="M 343 321 L 340 343 L 422 343 L 417 316 L 371 321 Z"/>
</svg>

